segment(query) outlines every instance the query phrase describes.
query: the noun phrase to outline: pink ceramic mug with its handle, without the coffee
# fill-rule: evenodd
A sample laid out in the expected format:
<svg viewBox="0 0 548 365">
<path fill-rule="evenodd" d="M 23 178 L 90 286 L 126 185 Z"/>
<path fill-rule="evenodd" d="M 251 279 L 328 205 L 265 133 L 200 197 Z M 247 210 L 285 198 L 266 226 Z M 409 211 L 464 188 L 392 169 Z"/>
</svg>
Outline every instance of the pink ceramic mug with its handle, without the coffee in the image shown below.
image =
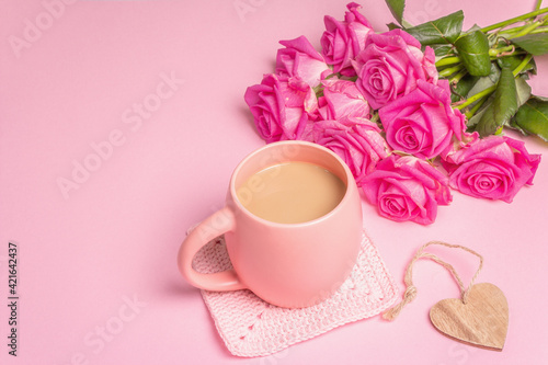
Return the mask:
<svg viewBox="0 0 548 365">
<path fill-rule="evenodd" d="M 315 163 L 338 175 L 346 185 L 339 205 L 327 215 L 301 224 L 273 223 L 244 208 L 236 195 L 238 187 L 252 174 L 289 161 Z M 260 186 L 258 183 L 256 189 Z M 194 255 L 220 235 L 225 235 L 233 270 L 198 273 L 192 266 Z M 186 237 L 178 263 L 181 274 L 198 288 L 250 289 L 276 306 L 308 307 L 329 298 L 349 276 L 361 238 L 362 205 L 347 166 L 322 146 L 281 141 L 260 148 L 240 162 L 230 179 L 226 206 Z"/>
</svg>

